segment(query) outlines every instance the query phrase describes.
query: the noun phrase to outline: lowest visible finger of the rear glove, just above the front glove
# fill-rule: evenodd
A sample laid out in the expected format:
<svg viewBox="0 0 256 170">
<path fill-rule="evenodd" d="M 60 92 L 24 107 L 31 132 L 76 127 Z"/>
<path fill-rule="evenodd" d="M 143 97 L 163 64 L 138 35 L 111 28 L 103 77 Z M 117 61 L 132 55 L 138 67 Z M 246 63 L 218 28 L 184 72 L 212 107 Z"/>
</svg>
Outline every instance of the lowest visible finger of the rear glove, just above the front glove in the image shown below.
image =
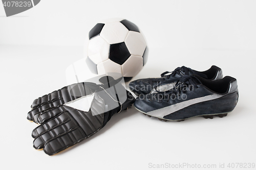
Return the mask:
<svg viewBox="0 0 256 170">
<path fill-rule="evenodd" d="M 58 107 L 55 107 L 51 110 L 42 112 L 39 115 L 39 117 L 37 118 L 37 122 L 39 124 L 43 124 L 43 123 L 47 122 L 48 120 L 50 120 L 51 118 L 56 117 L 59 114 L 65 112 L 65 111 L 67 111 L 67 110 L 65 108 L 63 108 L 63 106 L 58 106 Z"/>
</svg>

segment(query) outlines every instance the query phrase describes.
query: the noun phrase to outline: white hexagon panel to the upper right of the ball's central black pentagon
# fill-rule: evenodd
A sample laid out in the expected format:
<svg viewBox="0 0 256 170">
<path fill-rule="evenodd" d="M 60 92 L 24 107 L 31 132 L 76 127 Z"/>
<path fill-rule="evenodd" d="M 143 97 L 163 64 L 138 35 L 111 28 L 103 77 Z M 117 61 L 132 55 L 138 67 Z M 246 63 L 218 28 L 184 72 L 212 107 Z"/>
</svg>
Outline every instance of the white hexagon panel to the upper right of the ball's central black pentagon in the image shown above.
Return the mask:
<svg viewBox="0 0 256 170">
<path fill-rule="evenodd" d="M 129 31 L 124 42 L 129 52 L 131 53 L 131 55 L 135 55 L 135 56 L 143 55 L 146 48 L 146 42 L 140 33 Z"/>
</svg>

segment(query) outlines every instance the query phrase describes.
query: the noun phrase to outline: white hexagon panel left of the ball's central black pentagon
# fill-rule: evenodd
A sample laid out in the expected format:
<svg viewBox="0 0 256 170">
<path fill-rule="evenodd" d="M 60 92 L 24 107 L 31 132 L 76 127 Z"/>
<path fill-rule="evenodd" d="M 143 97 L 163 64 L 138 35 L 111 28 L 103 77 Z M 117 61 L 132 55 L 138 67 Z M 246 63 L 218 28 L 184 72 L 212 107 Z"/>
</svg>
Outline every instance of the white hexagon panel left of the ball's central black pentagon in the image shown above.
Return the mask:
<svg viewBox="0 0 256 170">
<path fill-rule="evenodd" d="M 95 64 L 98 64 L 109 59 L 109 49 L 110 44 L 97 36 L 89 41 L 87 55 Z"/>
</svg>

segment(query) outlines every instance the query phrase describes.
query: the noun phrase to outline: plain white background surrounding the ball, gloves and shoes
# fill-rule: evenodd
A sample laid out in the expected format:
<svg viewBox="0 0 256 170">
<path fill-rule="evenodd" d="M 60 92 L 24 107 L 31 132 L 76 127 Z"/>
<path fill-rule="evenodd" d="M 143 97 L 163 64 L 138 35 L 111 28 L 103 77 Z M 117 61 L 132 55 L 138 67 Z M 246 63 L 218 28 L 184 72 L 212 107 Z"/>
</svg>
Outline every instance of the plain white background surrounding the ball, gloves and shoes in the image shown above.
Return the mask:
<svg viewBox="0 0 256 170">
<path fill-rule="evenodd" d="M 1 166 L 153 169 L 149 163 L 188 163 L 218 169 L 220 163 L 256 163 L 255 6 L 255 1 L 44 0 L 5 17 L 0 5 Z M 147 64 L 133 80 L 182 65 L 199 71 L 217 65 L 238 80 L 237 107 L 224 118 L 180 123 L 160 122 L 132 107 L 55 156 L 34 150 L 31 132 L 37 125 L 26 119 L 31 103 L 67 85 L 65 70 L 83 58 L 88 32 L 113 17 L 134 22 L 150 47 Z"/>
</svg>

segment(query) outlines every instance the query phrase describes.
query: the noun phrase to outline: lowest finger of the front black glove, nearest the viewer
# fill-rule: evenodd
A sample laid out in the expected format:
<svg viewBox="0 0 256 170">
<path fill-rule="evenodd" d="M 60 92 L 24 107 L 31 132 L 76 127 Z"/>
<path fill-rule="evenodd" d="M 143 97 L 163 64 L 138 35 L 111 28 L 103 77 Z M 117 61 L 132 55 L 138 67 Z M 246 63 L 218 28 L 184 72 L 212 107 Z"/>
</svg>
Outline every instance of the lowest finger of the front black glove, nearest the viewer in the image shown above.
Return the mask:
<svg viewBox="0 0 256 170">
<path fill-rule="evenodd" d="M 81 128 L 72 129 L 69 133 L 63 134 L 54 138 L 53 140 L 47 141 L 44 147 L 44 151 L 48 155 L 54 155 L 60 151 L 63 151 L 74 144 L 85 139 L 84 133 Z"/>
</svg>

